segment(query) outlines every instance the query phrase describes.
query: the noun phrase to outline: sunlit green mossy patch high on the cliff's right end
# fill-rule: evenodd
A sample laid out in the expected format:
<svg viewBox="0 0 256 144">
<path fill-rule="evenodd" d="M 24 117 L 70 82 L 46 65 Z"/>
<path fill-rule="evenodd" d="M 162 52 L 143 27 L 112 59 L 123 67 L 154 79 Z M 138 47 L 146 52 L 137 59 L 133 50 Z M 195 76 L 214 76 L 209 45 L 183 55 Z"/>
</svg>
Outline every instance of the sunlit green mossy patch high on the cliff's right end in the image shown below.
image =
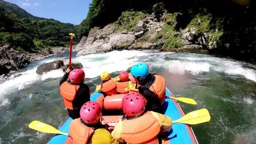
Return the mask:
<svg viewBox="0 0 256 144">
<path fill-rule="evenodd" d="M 212 15 L 201 15 L 197 14 L 195 18 L 191 20 L 187 28 L 195 27 L 198 33 L 208 32 L 211 30 L 210 22 L 212 20 Z"/>
</svg>

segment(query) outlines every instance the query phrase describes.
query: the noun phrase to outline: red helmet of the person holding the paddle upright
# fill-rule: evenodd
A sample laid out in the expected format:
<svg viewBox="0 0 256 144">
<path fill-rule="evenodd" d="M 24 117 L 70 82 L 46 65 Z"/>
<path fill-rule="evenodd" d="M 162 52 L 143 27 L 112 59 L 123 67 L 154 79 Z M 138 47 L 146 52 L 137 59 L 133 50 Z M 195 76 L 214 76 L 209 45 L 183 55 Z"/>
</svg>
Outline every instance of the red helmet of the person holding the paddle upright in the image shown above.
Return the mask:
<svg viewBox="0 0 256 144">
<path fill-rule="evenodd" d="M 84 80 L 85 74 L 82 69 L 74 69 L 69 73 L 69 80 L 74 84 L 80 84 Z"/>
</svg>

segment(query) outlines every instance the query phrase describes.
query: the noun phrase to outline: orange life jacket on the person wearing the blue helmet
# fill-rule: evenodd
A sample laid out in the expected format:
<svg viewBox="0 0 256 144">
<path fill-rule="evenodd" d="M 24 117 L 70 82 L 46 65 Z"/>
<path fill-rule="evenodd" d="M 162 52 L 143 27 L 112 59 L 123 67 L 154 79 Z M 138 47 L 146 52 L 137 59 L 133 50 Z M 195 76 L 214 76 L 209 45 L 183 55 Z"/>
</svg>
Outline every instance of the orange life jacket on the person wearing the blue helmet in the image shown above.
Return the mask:
<svg viewBox="0 0 256 144">
<path fill-rule="evenodd" d="M 161 104 L 164 104 L 165 100 L 165 80 L 163 76 L 159 75 L 153 75 L 155 77 L 154 81 L 148 82 L 148 84 L 145 84 L 143 87 L 148 88 L 152 92 L 155 93 L 155 95 L 160 100 Z"/>
</svg>

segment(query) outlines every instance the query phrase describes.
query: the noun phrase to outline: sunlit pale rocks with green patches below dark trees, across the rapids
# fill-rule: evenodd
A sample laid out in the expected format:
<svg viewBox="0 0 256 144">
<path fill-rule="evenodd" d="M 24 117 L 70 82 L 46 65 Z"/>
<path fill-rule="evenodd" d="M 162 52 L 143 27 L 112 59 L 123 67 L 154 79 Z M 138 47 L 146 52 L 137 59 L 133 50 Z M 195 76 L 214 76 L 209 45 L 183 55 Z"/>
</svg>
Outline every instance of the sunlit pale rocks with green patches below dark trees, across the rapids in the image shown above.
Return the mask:
<svg viewBox="0 0 256 144">
<path fill-rule="evenodd" d="M 202 30 L 208 22 L 198 17 L 187 28 L 176 30 L 179 13 L 168 13 L 163 3 L 155 4 L 151 15 L 143 12 L 123 12 L 119 20 L 102 29 L 93 28 L 87 37 L 82 37 L 76 56 L 95 52 L 109 52 L 122 49 L 158 49 L 171 52 L 208 53 L 217 48 L 221 29 Z M 138 19 L 142 18 L 142 19 Z M 128 20 L 128 22 L 125 20 Z M 129 28 L 128 24 L 136 23 Z M 205 28 L 206 29 L 206 28 Z"/>
</svg>

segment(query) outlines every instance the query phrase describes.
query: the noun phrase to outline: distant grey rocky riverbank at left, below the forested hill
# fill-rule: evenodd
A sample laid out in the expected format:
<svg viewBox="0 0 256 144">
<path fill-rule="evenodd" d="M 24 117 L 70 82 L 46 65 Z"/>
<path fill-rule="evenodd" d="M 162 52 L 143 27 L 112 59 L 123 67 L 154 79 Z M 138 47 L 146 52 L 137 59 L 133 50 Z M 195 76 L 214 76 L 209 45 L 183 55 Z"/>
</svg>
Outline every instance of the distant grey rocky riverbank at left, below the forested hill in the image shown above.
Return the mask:
<svg viewBox="0 0 256 144">
<path fill-rule="evenodd" d="M 76 48 L 76 45 L 73 46 Z M 7 77 L 32 63 L 33 61 L 43 59 L 45 57 L 65 52 L 69 50 L 64 47 L 45 48 L 37 53 L 22 53 L 11 48 L 9 45 L 0 47 L 0 80 Z"/>
</svg>

